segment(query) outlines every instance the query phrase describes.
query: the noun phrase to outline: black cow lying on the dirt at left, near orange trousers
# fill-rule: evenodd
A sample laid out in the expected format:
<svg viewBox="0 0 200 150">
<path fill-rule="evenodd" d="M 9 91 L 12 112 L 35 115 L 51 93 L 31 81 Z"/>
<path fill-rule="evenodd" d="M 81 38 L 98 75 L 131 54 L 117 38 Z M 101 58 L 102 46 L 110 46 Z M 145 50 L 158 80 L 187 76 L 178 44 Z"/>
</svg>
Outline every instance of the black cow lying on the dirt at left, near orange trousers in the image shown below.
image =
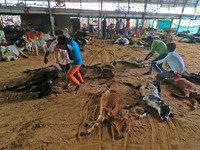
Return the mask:
<svg viewBox="0 0 200 150">
<path fill-rule="evenodd" d="M 34 76 L 19 85 L 6 88 L 1 91 L 15 91 L 20 92 L 28 90 L 31 92 L 39 92 L 38 97 L 47 96 L 52 93 L 52 80 L 58 77 L 59 69 L 56 66 L 48 66 L 45 68 L 39 68 L 35 70 L 28 70 L 25 73 L 33 72 Z"/>
</svg>

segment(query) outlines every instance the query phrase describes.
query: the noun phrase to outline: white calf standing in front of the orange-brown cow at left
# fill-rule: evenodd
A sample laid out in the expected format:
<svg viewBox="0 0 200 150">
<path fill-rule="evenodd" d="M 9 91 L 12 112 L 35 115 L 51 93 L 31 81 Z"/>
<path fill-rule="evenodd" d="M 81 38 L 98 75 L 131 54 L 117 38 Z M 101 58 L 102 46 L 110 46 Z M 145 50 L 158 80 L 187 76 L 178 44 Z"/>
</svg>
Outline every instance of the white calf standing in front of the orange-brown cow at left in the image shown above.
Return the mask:
<svg viewBox="0 0 200 150">
<path fill-rule="evenodd" d="M 36 40 L 36 41 L 26 43 L 26 49 L 31 52 L 34 52 L 34 50 L 35 50 L 37 56 L 38 56 L 38 46 L 41 46 L 43 48 L 44 52 L 46 53 L 46 51 L 48 49 L 46 41 Z"/>
</svg>

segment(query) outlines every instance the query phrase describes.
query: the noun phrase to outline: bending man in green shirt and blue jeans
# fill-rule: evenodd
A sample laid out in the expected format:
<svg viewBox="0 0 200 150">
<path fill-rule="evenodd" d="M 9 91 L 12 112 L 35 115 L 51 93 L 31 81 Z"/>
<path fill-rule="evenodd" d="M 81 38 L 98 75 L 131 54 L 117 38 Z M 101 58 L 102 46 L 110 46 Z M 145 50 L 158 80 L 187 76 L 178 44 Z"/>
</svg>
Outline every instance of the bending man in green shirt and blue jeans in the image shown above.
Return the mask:
<svg viewBox="0 0 200 150">
<path fill-rule="evenodd" d="M 149 68 L 149 71 L 144 73 L 144 75 L 150 75 L 153 71 L 153 68 L 155 68 L 157 72 L 162 72 L 162 70 L 152 62 L 161 60 L 167 56 L 167 46 L 163 41 L 154 40 L 152 36 L 149 36 L 147 38 L 147 42 L 151 46 L 151 51 L 144 60 L 148 60 L 149 58 L 151 58 L 155 52 L 157 52 L 158 55 L 153 58 L 153 60 L 151 61 L 151 66 Z"/>
</svg>

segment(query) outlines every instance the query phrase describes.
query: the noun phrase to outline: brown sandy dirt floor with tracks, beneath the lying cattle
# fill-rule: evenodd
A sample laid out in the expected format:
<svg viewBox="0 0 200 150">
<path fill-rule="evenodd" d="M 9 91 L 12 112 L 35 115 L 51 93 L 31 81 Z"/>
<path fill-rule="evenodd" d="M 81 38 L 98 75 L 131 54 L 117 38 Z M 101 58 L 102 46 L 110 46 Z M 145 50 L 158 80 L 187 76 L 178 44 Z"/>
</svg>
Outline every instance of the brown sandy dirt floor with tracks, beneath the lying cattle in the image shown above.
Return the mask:
<svg viewBox="0 0 200 150">
<path fill-rule="evenodd" d="M 186 71 L 200 71 L 200 45 L 177 44 L 176 51 L 182 56 Z M 147 48 L 119 46 L 107 40 L 91 41 L 81 52 L 86 65 L 110 62 L 131 55 L 144 59 Z M 26 69 L 36 69 L 55 64 L 54 55 L 49 63 L 43 63 L 44 52 L 39 56 L 25 52 L 29 58 L 17 61 L 0 62 L 0 88 L 26 81 Z M 149 60 L 150 61 L 150 60 Z M 149 62 L 148 61 L 148 62 Z M 34 98 L 30 92 L 0 92 L 0 149 L 30 150 L 199 150 L 200 149 L 200 109 L 192 111 L 188 99 L 177 99 L 172 92 L 179 92 L 172 85 L 162 85 L 161 97 L 170 105 L 174 118 L 162 122 L 158 113 L 152 111 L 146 118 L 137 119 L 144 112 L 145 104 L 130 110 L 122 110 L 131 122 L 130 132 L 120 139 L 113 126 L 105 121 L 91 135 L 79 136 L 87 128 L 86 121 L 96 120 L 99 114 L 101 94 L 110 85 L 121 95 L 121 106 L 138 101 L 137 91 L 123 85 L 126 81 L 135 85 L 154 81 L 156 71 L 144 76 L 145 68 L 134 68 L 128 64 L 117 63 L 115 77 L 111 79 L 87 79 L 96 74 L 89 70 L 85 84 L 76 93 L 75 86 L 64 89 L 64 74 L 59 75 L 53 86 L 53 94 L 45 98 Z M 200 86 L 197 85 L 199 88 Z M 199 105 L 200 106 L 200 105 Z"/>
</svg>

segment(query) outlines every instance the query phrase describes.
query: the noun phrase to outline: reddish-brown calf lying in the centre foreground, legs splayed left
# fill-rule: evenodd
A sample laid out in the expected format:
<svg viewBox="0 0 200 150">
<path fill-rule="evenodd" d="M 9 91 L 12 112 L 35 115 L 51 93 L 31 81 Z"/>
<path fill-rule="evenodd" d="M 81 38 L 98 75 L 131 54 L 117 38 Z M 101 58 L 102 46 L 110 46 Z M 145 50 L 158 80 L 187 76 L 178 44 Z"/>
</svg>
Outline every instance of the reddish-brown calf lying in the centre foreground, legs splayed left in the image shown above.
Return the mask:
<svg viewBox="0 0 200 150">
<path fill-rule="evenodd" d="M 106 91 L 106 93 L 101 96 L 100 114 L 98 119 L 96 121 L 87 123 L 87 125 L 92 125 L 92 127 L 89 128 L 86 132 L 81 132 L 80 135 L 83 136 L 91 134 L 92 130 L 106 118 L 108 118 L 114 125 L 120 137 L 124 137 L 125 134 L 129 131 L 129 120 L 122 116 L 120 110 L 120 95 L 113 88 Z"/>
</svg>

